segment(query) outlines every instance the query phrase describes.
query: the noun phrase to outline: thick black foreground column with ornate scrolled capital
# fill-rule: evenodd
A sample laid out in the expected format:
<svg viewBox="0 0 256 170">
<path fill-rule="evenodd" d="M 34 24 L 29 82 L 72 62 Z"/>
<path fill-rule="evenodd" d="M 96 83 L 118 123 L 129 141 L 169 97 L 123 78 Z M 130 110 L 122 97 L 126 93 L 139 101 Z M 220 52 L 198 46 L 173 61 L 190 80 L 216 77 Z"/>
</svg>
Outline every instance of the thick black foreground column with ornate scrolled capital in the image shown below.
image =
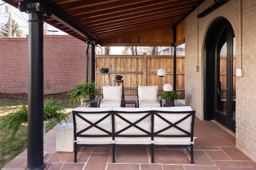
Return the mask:
<svg viewBox="0 0 256 170">
<path fill-rule="evenodd" d="M 29 14 L 28 39 L 28 156 L 25 170 L 42 170 L 44 163 L 44 61 L 43 15 L 39 2 L 20 2 L 21 12 Z"/>
</svg>

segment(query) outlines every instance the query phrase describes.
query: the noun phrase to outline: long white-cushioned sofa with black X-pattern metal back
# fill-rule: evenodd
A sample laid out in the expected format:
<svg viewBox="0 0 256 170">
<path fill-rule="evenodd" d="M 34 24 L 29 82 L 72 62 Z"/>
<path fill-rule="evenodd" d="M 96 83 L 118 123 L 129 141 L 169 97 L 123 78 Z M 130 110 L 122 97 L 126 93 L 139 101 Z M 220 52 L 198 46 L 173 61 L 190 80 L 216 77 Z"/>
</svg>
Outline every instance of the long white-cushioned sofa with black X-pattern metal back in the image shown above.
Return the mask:
<svg viewBox="0 0 256 170">
<path fill-rule="evenodd" d="M 111 146 L 113 163 L 117 146 L 150 147 L 152 163 L 154 147 L 173 146 L 186 147 L 193 164 L 194 118 L 189 106 L 75 108 L 74 162 L 81 146 Z"/>
</svg>

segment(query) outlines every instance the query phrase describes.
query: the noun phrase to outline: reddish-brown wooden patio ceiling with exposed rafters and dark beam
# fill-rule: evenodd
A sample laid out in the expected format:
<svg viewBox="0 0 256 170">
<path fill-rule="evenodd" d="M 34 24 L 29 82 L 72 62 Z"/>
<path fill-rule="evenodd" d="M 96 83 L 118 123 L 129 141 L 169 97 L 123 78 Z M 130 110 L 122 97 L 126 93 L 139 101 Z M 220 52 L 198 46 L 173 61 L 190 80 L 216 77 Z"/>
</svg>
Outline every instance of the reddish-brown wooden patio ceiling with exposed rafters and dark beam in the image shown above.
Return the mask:
<svg viewBox="0 0 256 170">
<path fill-rule="evenodd" d="M 23 0 L 4 0 L 18 8 Z M 35 1 L 36 2 L 36 1 Z M 44 0 L 44 22 L 84 42 L 100 45 L 175 28 L 203 0 Z"/>
</svg>

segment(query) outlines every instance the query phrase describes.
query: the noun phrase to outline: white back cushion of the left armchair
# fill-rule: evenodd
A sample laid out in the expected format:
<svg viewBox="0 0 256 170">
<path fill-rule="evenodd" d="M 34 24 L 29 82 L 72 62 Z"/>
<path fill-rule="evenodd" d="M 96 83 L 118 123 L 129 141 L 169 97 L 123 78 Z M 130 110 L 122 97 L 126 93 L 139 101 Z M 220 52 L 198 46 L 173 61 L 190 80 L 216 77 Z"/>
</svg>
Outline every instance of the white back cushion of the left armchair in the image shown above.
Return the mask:
<svg viewBox="0 0 256 170">
<path fill-rule="evenodd" d="M 103 101 L 120 101 L 122 100 L 122 86 L 103 86 Z M 101 105 L 101 103 L 100 103 Z"/>
</svg>

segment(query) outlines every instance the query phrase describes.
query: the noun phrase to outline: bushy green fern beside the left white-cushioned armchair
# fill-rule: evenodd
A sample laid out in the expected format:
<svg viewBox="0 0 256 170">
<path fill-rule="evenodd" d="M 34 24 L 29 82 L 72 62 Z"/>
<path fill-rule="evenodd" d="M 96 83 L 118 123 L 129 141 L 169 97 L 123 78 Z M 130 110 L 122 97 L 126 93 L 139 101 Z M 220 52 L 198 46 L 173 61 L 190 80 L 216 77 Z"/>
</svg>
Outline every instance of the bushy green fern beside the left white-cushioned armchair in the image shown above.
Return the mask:
<svg viewBox="0 0 256 170">
<path fill-rule="evenodd" d="M 98 95 L 98 91 L 96 89 L 95 82 L 88 82 L 88 83 L 80 83 L 76 85 L 72 90 L 69 92 L 70 96 L 68 97 L 68 103 L 74 106 L 83 105 L 83 101 L 88 99 L 95 99 Z M 78 104 L 77 101 L 80 100 Z"/>
</svg>

